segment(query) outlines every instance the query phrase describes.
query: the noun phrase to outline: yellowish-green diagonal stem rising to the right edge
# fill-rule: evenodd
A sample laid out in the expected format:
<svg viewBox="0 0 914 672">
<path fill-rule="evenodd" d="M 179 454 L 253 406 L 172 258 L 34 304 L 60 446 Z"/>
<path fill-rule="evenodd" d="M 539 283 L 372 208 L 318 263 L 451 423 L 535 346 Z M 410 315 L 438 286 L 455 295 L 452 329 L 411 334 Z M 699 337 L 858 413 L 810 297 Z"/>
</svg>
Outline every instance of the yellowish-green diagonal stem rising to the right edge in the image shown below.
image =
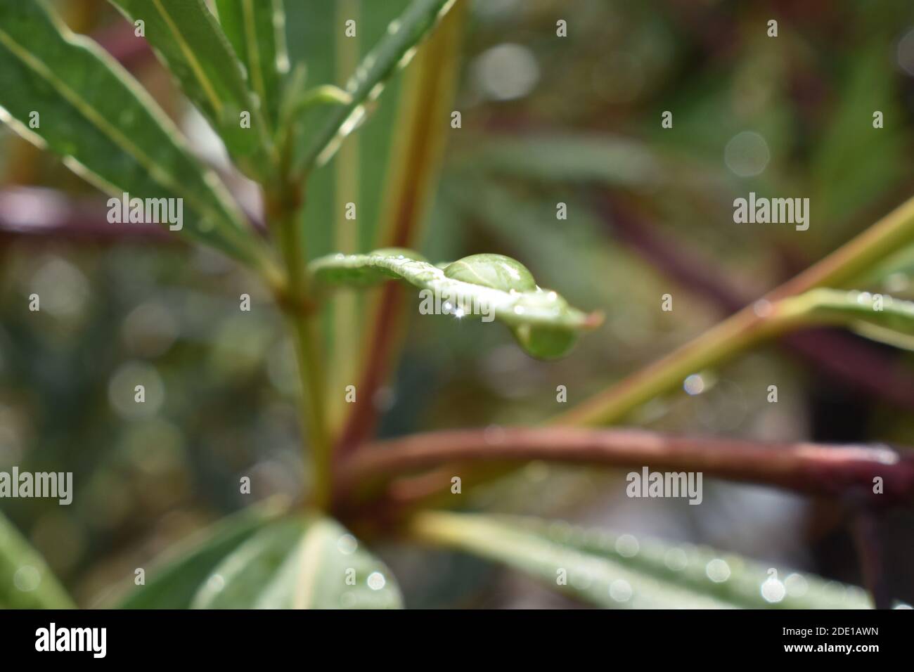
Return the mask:
<svg viewBox="0 0 914 672">
<path fill-rule="evenodd" d="M 914 240 L 914 198 L 880 219 L 854 240 L 832 252 L 791 281 L 766 294 L 774 302 L 815 287 L 838 287 L 853 280 L 892 251 Z M 717 364 L 767 336 L 764 313 L 751 304 L 672 354 L 584 401 L 552 420 L 553 424 L 609 424 L 656 395 L 682 383 L 686 376 Z M 760 313 L 760 314 L 757 314 Z"/>
</svg>

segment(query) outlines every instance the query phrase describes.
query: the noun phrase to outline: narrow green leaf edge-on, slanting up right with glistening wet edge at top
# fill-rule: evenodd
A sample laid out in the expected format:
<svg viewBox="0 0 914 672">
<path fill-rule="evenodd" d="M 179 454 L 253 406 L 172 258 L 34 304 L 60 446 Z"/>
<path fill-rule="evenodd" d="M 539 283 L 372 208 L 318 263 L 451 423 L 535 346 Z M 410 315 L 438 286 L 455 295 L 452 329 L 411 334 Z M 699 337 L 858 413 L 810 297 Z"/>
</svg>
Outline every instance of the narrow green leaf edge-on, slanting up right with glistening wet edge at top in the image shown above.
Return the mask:
<svg viewBox="0 0 914 672">
<path fill-rule="evenodd" d="M 456 0 L 413 0 L 407 10 L 388 27 L 388 35 L 362 60 L 345 90 L 352 100 L 339 106 L 317 133 L 309 137 L 296 159 L 296 169 L 307 171 L 324 165 L 345 137 L 362 123 L 367 104 L 377 100 L 387 80 L 404 68 L 417 46 L 447 14 Z"/>
</svg>

